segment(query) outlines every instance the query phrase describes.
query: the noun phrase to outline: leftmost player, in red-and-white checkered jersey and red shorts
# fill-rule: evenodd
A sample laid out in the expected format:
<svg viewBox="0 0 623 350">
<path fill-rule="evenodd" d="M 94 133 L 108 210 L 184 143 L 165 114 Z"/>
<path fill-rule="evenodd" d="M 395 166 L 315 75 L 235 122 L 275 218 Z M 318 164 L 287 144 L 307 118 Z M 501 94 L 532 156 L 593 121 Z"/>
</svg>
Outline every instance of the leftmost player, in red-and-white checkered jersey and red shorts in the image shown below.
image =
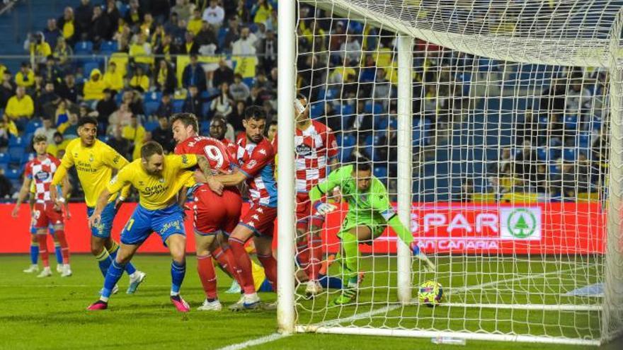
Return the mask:
<svg viewBox="0 0 623 350">
<path fill-rule="evenodd" d="M 43 262 L 43 270 L 38 277 L 52 276 L 50 259 L 47 252 L 47 228 L 50 225 L 54 228 L 55 240 L 59 242 L 61 247 L 61 276 L 72 276 L 72 269 L 69 267 L 69 246 L 67 245 L 67 238 L 65 238 L 64 232 L 63 211 L 62 208 L 50 198 L 50 184 L 52 183 L 52 177 L 60 165 L 60 161 L 47 153 L 47 137 L 45 135 L 35 135 L 33 147 L 35 148 L 35 152 L 37 152 L 37 157 L 25 165 L 24 181 L 19 192 L 17 203 L 11 212 L 11 216 L 14 218 L 18 216 L 18 211 L 22 202 L 28 196 L 30 188 L 34 186 L 35 203 L 31 212 L 33 214 L 33 228 L 36 231 L 39 254 Z M 63 185 L 69 187 L 67 178 L 64 180 Z M 69 210 L 67 210 L 67 202 L 65 202 L 64 205 L 66 212 L 69 213 Z"/>
</svg>

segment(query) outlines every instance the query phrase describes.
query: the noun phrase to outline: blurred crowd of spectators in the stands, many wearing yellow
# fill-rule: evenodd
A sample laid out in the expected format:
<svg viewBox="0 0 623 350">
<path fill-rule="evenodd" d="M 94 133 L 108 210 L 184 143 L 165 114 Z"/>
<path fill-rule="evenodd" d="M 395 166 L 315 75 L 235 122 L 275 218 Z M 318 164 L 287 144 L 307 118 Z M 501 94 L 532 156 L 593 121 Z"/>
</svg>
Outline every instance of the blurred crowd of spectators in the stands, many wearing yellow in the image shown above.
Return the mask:
<svg viewBox="0 0 623 350">
<path fill-rule="evenodd" d="M 336 132 L 343 161 L 367 156 L 377 177 L 395 178 L 394 35 L 308 6 L 301 6 L 299 18 L 297 86 L 309 96 L 311 116 Z M 243 129 L 244 109 L 259 105 L 274 130 L 277 32 L 274 0 L 81 0 L 64 8 L 29 35 L 24 48 L 30 62 L 18 71 L 0 65 L 0 197 L 17 191 L 34 134 L 45 134 L 50 153 L 60 158 L 86 115 L 98 119 L 98 135 L 128 159 L 149 140 L 172 151 L 173 112 L 193 112 L 202 132 L 220 115 L 227 138 L 234 139 Z M 108 59 L 85 58 L 91 54 Z M 255 59 L 255 76 L 244 76 L 227 55 Z M 470 81 L 477 61 L 418 42 L 413 111 L 414 125 L 424 126 L 414 134 L 419 162 L 431 160 L 430 149 L 447 142 L 452 124 L 474 107 Z M 543 91 L 535 112 L 516 119 L 517 135 L 488 168 L 487 184 L 476 191 L 466 178 L 453 198 L 528 190 L 571 198 L 601 187 L 607 139 L 600 130 L 607 116 L 595 116 L 601 108 L 595 101 L 605 95 L 607 77 L 576 70 L 562 75 Z M 75 175 L 74 185 L 79 188 Z"/>
</svg>

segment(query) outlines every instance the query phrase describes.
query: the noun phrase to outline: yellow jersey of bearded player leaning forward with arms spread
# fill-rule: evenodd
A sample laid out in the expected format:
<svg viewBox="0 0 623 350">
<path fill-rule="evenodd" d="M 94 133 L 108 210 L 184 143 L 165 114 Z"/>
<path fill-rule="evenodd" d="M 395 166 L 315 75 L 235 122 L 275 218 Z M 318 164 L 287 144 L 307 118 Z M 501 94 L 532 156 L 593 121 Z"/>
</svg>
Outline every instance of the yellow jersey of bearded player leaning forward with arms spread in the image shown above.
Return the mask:
<svg viewBox="0 0 623 350">
<path fill-rule="evenodd" d="M 122 168 L 108 183 L 110 193 L 119 192 L 132 184 L 139 192 L 139 204 L 145 209 L 164 209 L 169 206 L 182 187 L 194 184 L 193 172 L 185 170 L 197 165 L 194 154 L 164 156 L 164 169 L 159 175 L 147 173 L 137 159 Z"/>
</svg>

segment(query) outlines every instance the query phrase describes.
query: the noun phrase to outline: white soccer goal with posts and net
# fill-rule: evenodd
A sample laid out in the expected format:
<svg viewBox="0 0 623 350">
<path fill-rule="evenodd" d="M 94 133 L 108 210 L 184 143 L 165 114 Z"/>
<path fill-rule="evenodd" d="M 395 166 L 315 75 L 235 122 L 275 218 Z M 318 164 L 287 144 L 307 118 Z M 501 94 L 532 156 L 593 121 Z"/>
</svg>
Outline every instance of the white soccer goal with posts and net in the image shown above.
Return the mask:
<svg viewBox="0 0 623 350">
<path fill-rule="evenodd" d="M 282 58 L 280 84 L 295 86 L 311 119 L 336 138 L 338 162 L 325 176 L 333 182 L 321 191 L 336 210 L 314 226 L 319 212 L 297 207 L 299 175 L 323 164 L 306 147 L 294 148 L 292 162 L 280 151 L 282 329 L 566 344 L 616 337 L 622 8 L 601 0 L 299 1 L 292 28 L 279 32 L 295 81 L 281 76 L 290 72 Z M 282 45 L 292 33 L 295 45 Z M 282 91 L 280 147 L 297 127 L 287 119 L 298 115 L 294 93 Z M 383 190 L 415 250 L 388 223 L 391 212 L 370 204 Z"/>
</svg>

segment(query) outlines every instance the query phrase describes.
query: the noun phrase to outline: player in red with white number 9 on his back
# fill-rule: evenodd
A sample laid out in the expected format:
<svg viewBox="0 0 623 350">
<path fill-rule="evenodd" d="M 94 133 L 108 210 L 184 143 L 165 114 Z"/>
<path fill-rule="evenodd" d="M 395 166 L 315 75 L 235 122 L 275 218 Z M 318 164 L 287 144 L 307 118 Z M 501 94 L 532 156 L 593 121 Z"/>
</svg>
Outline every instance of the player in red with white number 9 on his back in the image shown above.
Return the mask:
<svg viewBox="0 0 623 350">
<path fill-rule="evenodd" d="M 218 123 L 222 124 L 218 124 Z M 217 127 L 215 128 L 215 124 Z M 232 173 L 236 157 L 230 153 L 221 141 L 213 137 L 199 136 L 198 120 L 192 113 L 178 113 L 171 117 L 173 139 L 176 140 L 176 154 L 199 154 L 210 163 L 213 175 Z M 220 136 L 224 121 L 212 119 L 210 135 Z M 237 165 L 236 165 L 237 166 Z M 225 187 L 221 195 L 212 192 L 208 185 L 200 185 L 194 190 L 193 225 L 195 227 L 195 250 L 197 271 L 205 292 L 205 301 L 198 310 L 218 311 L 222 305 L 217 298 L 217 281 L 212 258 L 230 274 L 236 276 L 235 258 L 229 245 L 224 242 L 224 235 L 229 235 L 240 219 L 242 198 L 236 187 Z"/>
</svg>

